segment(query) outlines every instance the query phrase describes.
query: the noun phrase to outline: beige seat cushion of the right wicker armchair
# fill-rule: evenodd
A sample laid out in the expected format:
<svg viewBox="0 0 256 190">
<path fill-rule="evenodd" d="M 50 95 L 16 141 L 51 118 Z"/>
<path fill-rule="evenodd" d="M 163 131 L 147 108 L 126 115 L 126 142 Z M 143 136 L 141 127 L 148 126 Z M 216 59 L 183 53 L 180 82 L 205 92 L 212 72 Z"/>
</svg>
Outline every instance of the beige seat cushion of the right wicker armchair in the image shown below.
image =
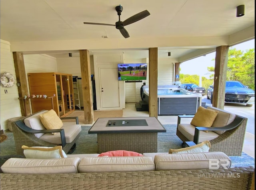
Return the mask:
<svg viewBox="0 0 256 190">
<path fill-rule="evenodd" d="M 195 126 L 191 124 L 179 124 L 178 125 L 178 130 L 189 140 L 193 141 L 194 140 L 194 134 L 195 134 Z M 213 131 L 200 131 L 199 135 L 199 142 L 203 142 L 205 140 L 212 140 L 214 138 L 217 138 L 219 134 Z"/>
</svg>

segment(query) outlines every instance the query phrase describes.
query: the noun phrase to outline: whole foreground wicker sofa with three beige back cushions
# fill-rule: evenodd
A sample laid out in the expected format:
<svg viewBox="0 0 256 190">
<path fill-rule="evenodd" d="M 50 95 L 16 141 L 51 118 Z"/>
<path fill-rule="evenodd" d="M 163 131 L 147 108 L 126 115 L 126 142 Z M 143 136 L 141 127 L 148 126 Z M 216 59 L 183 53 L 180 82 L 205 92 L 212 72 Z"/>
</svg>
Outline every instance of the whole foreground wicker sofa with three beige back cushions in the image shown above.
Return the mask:
<svg viewBox="0 0 256 190">
<path fill-rule="evenodd" d="M 209 160 L 226 160 L 227 168 L 210 168 Z M 223 152 L 190 154 L 144 153 L 144 156 L 10 158 L 1 169 L 0 189 L 239 189 L 249 190 L 254 167 L 229 168 Z"/>
</svg>

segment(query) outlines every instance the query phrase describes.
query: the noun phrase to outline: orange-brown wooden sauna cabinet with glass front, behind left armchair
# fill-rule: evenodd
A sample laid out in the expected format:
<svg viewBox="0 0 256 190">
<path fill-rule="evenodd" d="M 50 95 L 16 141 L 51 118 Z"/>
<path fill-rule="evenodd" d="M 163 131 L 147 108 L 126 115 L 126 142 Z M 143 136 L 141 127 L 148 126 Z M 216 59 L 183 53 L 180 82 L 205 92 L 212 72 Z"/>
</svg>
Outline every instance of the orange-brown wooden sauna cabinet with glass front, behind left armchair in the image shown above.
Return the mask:
<svg viewBox="0 0 256 190">
<path fill-rule="evenodd" d="M 49 98 L 31 98 L 32 112 L 53 109 L 59 117 L 74 111 L 74 92 L 71 74 L 56 72 L 28 73 L 30 96 L 47 95 Z"/>
</svg>

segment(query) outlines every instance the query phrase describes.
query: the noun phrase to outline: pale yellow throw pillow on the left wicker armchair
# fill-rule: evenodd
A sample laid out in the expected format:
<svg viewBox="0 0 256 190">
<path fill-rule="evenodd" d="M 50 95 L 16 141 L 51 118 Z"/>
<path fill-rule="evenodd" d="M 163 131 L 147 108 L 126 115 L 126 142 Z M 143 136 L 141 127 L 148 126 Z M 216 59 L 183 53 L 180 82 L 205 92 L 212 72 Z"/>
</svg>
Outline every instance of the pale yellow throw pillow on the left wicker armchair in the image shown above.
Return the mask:
<svg viewBox="0 0 256 190">
<path fill-rule="evenodd" d="M 63 126 L 62 120 L 54 110 L 40 115 L 40 120 L 46 129 L 60 129 Z M 55 135 L 56 133 L 52 133 Z"/>
</svg>

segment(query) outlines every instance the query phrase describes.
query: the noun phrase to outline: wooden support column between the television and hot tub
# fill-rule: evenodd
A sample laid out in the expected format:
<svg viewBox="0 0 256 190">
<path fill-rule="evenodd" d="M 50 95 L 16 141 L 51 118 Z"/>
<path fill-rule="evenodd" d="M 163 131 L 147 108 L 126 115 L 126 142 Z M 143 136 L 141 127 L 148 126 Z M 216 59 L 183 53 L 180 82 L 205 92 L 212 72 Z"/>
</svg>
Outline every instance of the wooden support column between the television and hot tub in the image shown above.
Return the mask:
<svg viewBox="0 0 256 190">
<path fill-rule="evenodd" d="M 158 117 L 157 73 L 158 48 L 149 48 L 149 116 Z"/>
</svg>

